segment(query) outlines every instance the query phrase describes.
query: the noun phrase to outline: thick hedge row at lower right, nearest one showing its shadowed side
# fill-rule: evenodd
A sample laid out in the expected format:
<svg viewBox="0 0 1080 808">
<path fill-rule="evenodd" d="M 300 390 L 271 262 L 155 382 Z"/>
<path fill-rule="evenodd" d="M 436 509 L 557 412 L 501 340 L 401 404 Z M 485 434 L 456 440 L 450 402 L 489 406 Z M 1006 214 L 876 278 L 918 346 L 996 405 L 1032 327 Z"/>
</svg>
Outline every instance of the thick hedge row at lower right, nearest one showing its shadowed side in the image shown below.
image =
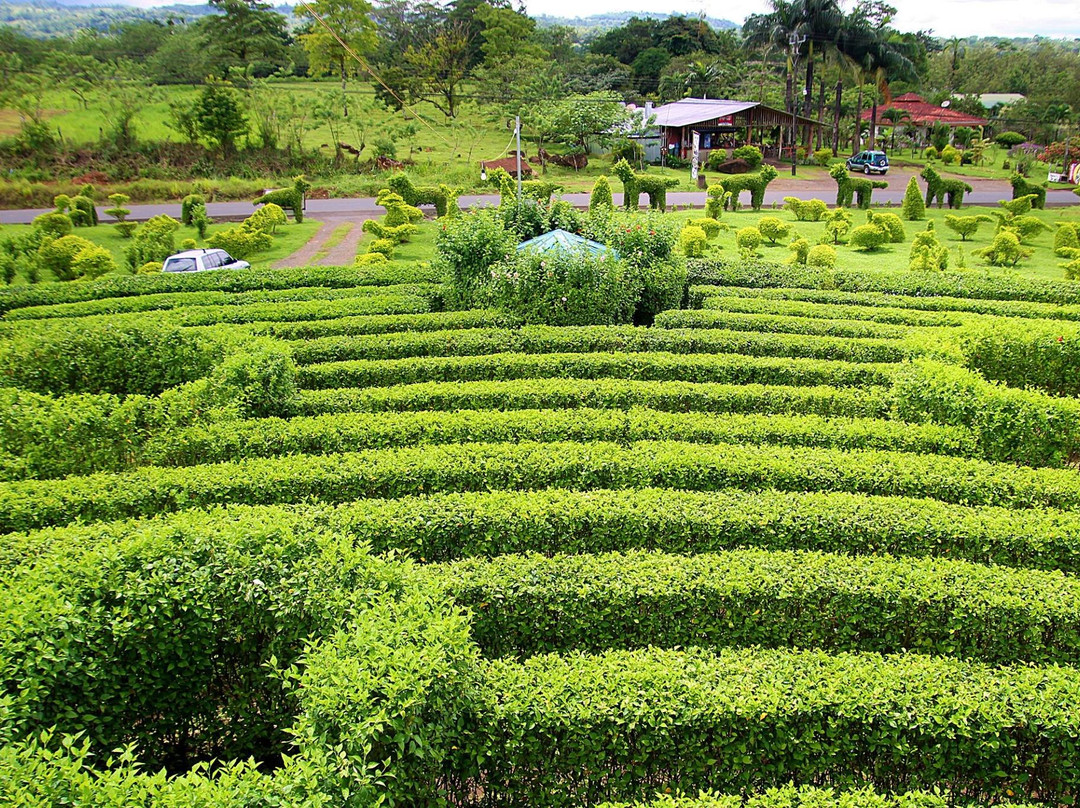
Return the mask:
<svg viewBox="0 0 1080 808">
<path fill-rule="evenodd" d="M 1080 791 L 1071 669 L 648 649 L 481 670 L 475 735 L 456 760 L 465 777 L 450 795 L 464 805 L 477 781 L 484 805 L 530 806 L 792 780 L 987 802 L 1070 804 Z"/>
</svg>

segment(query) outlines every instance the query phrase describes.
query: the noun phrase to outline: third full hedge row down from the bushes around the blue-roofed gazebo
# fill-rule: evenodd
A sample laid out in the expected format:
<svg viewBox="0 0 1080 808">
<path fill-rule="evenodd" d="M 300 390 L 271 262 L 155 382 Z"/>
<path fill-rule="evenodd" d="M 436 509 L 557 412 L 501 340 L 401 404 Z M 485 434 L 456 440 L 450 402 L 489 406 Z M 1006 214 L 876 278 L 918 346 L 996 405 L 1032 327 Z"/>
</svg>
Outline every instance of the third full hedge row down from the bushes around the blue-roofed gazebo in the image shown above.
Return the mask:
<svg viewBox="0 0 1080 808">
<path fill-rule="evenodd" d="M 644 406 L 673 413 L 775 413 L 882 417 L 882 388 L 714 385 L 634 379 L 524 378 L 510 381 L 424 381 L 393 387 L 301 390 L 296 415 L 420 409 L 558 409 Z"/>
</svg>

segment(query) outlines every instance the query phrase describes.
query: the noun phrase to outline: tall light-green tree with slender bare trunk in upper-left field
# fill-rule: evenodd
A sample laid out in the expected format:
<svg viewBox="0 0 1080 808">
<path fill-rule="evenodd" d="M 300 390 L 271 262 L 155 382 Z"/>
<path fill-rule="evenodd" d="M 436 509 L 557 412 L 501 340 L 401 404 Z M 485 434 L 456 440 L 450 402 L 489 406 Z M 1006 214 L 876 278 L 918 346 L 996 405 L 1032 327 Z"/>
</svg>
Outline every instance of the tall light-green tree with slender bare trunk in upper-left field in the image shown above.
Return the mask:
<svg viewBox="0 0 1080 808">
<path fill-rule="evenodd" d="M 347 82 L 364 69 L 352 53 L 361 58 L 370 55 L 378 39 L 372 4 L 367 0 L 311 0 L 297 11 L 312 17 L 318 14 L 333 31 L 315 19 L 309 31 L 300 35 L 300 41 L 311 60 L 312 75 L 334 71 L 341 78 L 341 115 L 348 118 Z"/>
</svg>

